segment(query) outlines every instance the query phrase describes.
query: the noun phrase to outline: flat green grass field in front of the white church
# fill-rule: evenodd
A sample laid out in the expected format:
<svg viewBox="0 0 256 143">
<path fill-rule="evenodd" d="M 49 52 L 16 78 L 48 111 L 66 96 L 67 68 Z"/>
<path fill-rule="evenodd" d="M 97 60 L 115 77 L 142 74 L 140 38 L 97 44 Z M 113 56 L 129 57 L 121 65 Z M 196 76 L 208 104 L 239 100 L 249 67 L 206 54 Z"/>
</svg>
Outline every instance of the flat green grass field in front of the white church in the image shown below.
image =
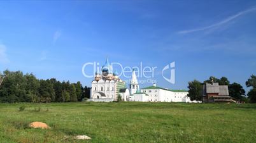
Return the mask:
<svg viewBox="0 0 256 143">
<path fill-rule="evenodd" d="M 0 104 L 0 142 L 256 142 L 256 104 Z"/>
</svg>

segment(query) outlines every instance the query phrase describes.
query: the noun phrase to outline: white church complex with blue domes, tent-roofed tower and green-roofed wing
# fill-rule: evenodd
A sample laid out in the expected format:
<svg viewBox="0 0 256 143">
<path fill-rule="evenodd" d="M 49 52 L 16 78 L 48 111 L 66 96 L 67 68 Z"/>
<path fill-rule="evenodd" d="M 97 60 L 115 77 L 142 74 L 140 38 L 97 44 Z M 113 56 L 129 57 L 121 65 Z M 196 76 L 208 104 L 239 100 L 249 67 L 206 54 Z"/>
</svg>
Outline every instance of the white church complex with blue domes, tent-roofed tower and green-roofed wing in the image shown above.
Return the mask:
<svg viewBox="0 0 256 143">
<path fill-rule="evenodd" d="M 156 84 L 139 89 L 134 70 L 132 71 L 129 89 L 127 89 L 125 82 L 117 76 L 117 72 L 113 72 L 113 67 L 107 58 L 106 63 L 101 68 L 101 72 L 96 72 L 95 78 L 92 80 L 89 101 L 117 101 L 118 95 L 122 97 L 123 101 L 196 103 L 195 101 L 190 101 L 190 97 L 187 96 L 187 90 L 164 89 L 157 87 Z"/>
</svg>

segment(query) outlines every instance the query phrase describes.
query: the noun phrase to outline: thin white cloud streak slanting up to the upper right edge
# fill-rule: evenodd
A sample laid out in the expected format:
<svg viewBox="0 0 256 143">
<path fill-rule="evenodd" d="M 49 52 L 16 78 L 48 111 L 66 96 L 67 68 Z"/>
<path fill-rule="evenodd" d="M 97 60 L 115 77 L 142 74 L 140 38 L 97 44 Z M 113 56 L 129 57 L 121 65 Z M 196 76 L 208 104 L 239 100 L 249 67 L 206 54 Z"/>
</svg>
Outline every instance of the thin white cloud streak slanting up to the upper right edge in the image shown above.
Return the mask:
<svg viewBox="0 0 256 143">
<path fill-rule="evenodd" d="M 188 34 L 188 33 L 192 33 L 192 32 L 208 30 L 210 28 L 217 28 L 217 27 L 220 27 L 221 25 L 224 25 L 225 23 L 231 22 L 231 20 L 234 20 L 235 18 L 238 18 L 239 16 L 245 15 L 246 13 L 249 13 L 249 12 L 252 12 L 252 11 L 255 11 L 255 10 L 256 10 L 256 8 L 246 9 L 245 11 L 241 11 L 241 12 L 237 13 L 236 15 L 229 16 L 228 18 L 225 18 L 225 20 L 214 23 L 213 25 L 210 25 L 210 26 L 207 26 L 207 27 L 190 29 L 190 30 L 182 30 L 182 31 L 178 32 L 178 34 Z"/>
</svg>

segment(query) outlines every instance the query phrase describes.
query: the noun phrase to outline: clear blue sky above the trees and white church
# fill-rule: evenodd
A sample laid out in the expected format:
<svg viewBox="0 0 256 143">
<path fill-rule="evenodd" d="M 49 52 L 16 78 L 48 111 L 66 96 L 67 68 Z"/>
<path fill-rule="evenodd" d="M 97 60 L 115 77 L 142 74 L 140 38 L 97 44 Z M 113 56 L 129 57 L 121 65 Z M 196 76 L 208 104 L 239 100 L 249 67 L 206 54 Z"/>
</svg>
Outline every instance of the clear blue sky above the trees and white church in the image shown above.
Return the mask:
<svg viewBox="0 0 256 143">
<path fill-rule="evenodd" d="M 156 74 L 160 87 L 211 75 L 245 87 L 256 73 L 255 25 L 256 1 L 0 1 L 0 70 L 90 86 L 83 64 L 108 56 L 157 73 L 175 61 L 176 83 Z"/>
</svg>

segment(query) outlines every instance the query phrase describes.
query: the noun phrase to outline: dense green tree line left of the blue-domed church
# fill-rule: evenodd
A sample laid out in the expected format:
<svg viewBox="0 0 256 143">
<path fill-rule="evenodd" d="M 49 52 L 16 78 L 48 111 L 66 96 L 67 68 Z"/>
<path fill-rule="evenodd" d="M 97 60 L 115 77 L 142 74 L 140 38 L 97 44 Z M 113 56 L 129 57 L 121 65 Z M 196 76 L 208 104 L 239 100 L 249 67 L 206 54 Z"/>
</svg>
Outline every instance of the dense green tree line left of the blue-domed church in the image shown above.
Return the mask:
<svg viewBox="0 0 256 143">
<path fill-rule="evenodd" d="M 39 80 L 32 73 L 5 70 L 0 73 L 1 103 L 76 102 L 90 97 L 90 88 L 80 82 Z"/>
</svg>

